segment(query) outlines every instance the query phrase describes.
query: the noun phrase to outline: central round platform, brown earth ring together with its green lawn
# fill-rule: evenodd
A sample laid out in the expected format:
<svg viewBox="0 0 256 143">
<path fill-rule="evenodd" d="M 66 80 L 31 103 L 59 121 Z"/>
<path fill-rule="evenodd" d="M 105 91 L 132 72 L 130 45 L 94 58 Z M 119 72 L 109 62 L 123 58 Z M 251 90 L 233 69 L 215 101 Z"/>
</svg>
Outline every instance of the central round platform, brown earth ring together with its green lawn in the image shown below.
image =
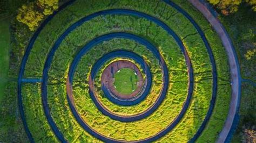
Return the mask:
<svg viewBox="0 0 256 143">
<path fill-rule="evenodd" d="M 122 99 L 137 96 L 143 88 L 143 76 L 139 68 L 131 61 L 119 60 L 108 65 L 101 77 L 102 84 Z"/>
</svg>

